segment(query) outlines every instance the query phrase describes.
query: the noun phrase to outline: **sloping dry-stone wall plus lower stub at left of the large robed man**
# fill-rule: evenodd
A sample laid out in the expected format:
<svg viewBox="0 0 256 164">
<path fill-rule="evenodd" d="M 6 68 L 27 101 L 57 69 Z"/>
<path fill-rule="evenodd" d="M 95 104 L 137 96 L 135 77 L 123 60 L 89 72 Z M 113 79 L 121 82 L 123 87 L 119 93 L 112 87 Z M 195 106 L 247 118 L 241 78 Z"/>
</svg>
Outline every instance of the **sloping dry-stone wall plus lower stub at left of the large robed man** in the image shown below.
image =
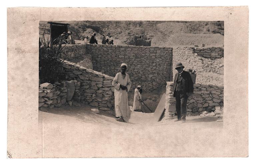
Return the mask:
<svg viewBox="0 0 256 164">
<path fill-rule="evenodd" d="M 87 69 L 69 61 L 63 61 L 63 69 L 60 74 L 64 75 L 68 82 L 75 85 L 75 93 L 72 100 L 74 105 L 86 103 L 101 110 L 111 110 L 114 107 L 114 87 L 112 86 L 113 77 Z M 59 105 L 70 104 L 67 102 L 67 87 L 65 82 L 53 84 L 53 89 L 39 89 L 39 107 L 59 107 Z M 48 93 L 50 92 L 50 93 Z M 46 93 L 46 94 L 45 94 Z M 56 99 L 57 104 L 48 102 Z M 43 101 L 46 100 L 46 101 Z M 41 102 L 40 102 L 41 101 Z M 43 104 L 44 102 L 44 104 Z M 55 100 L 54 100 L 55 102 Z M 46 105 L 45 105 L 46 104 Z"/>
</svg>

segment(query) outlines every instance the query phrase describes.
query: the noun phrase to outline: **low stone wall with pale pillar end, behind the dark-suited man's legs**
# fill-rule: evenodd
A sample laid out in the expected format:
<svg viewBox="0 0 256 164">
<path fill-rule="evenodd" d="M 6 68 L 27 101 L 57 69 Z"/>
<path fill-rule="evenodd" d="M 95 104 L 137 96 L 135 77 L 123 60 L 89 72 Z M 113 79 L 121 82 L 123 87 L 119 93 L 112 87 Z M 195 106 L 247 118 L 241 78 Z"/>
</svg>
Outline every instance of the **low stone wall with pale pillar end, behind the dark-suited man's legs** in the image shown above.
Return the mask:
<svg viewBox="0 0 256 164">
<path fill-rule="evenodd" d="M 173 97 L 173 82 L 166 85 L 165 115 L 172 115 L 176 112 L 175 97 Z M 220 85 L 194 84 L 194 93 L 188 98 L 187 111 L 199 113 L 211 110 L 215 106 L 223 106 L 224 88 Z"/>
</svg>

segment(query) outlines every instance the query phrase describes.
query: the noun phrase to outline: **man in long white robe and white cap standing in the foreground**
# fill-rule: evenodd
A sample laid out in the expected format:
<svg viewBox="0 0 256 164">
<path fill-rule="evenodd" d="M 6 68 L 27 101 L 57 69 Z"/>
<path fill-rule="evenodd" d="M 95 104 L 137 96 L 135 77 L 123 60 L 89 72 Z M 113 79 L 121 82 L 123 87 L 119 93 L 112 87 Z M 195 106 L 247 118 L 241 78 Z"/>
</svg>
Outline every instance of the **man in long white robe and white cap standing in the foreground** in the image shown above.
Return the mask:
<svg viewBox="0 0 256 164">
<path fill-rule="evenodd" d="M 129 116 L 128 91 L 131 88 L 131 81 L 126 74 L 127 64 L 121 65 L 121 72 L 117 73 L 112 85 L 115 87 L 115 116 L 117 121 L 123 121 L 123 118 Z"/>
</svg>

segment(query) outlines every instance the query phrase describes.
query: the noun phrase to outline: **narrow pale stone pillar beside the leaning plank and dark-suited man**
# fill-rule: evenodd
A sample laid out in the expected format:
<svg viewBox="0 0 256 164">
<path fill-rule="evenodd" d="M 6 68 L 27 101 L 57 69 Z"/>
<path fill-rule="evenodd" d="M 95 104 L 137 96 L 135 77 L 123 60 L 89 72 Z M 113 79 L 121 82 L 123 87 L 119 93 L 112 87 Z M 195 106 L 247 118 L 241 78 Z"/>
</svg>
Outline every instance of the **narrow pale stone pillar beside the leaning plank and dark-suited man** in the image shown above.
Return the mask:
<svg viewBox="0 0 256 164">
<path fill-rule="evenodd" d="M 173 97 L 173 82 L 166 82 L 166 101 L 165 101 L 165 113 L 164 113 L 164 119 L 171 119 L 172 115 L 175 114 L 175 104 L 176 100 L 175 97 Z"/>
</svg>

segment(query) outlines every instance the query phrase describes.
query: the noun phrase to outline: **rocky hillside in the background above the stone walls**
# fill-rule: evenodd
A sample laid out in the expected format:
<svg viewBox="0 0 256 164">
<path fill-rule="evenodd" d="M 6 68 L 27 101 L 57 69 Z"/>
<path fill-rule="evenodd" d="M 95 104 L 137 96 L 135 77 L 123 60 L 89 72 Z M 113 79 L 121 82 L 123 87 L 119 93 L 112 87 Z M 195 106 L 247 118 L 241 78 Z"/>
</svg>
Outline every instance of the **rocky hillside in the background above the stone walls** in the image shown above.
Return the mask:
<svg viewBox="0 0 256 164">
<path fill-rule="evenodd" d="M 60 21 L 56 21 L 60 22 Z M 136 39 L 151 41 L 151 46 L 179 47 L 205 44 L 224 46 L 224 21 L 62 21 L 69 23 L 76 40 L 96 32 L 98 43 L 102 35 L 111 34 L 116 45 L 135 45 Z M 47 21 L 40 21 L 39 34 L 50 34 Z M 79 41 L 77 41 L 79 43 Z"/>
</svg>

